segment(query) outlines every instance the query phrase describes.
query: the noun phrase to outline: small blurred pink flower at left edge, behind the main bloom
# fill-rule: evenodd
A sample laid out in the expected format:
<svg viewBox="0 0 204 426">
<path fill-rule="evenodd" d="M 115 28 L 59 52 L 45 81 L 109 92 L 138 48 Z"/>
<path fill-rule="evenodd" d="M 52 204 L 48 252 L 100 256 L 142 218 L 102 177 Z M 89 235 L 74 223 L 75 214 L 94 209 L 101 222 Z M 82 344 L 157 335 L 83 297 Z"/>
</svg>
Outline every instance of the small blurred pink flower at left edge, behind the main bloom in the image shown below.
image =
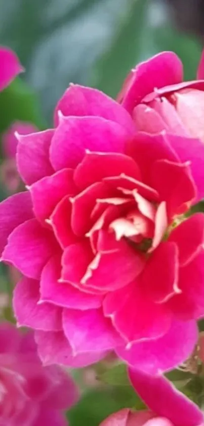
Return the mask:
<svg viewBox="0 0 204 426">
<path fill-rule="evenodd" d="M 14 193 L 20 189 L 21 179 L 16 168 L 16 149 L 18 140 L 15 133 L 27 135 L 34 133 L 37 128 L 23 121 L 14 122 L 2 136 L 3 152 L 6 159 L 0 167 L 0 176 L 3 185 L 10 193 Z"/>
</svg>

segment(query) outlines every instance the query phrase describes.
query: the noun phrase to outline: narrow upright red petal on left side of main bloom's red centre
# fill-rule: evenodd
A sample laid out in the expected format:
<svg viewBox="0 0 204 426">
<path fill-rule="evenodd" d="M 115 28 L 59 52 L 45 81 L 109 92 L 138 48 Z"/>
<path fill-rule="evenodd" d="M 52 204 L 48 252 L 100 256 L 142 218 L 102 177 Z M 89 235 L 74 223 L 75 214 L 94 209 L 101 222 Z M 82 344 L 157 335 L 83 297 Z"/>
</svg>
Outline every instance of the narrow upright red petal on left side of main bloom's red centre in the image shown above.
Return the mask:
<svg viewBox="0 0 204 426">
<path fill-rule="evenodd" d="M 66 195 L 58 203 L 50 217 L 50 224 L 55 237 L 62 248 L 78 242 L 78 238 L 71 229 L 71 209 L 72 204 L 69 196 Z"/>
</svg>

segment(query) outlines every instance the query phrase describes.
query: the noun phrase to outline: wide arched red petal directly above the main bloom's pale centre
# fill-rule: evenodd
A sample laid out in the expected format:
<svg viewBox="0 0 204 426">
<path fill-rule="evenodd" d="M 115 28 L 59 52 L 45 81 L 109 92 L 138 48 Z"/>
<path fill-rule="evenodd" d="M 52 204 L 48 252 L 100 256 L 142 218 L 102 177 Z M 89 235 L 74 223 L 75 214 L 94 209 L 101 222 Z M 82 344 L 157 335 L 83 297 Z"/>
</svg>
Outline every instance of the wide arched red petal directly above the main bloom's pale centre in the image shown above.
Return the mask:
<svg viewBox="0 0 204 426">
<path fill-rule="evenodd" d="M 104 177 L 120 173 L 140 180 L 137 163 L 131 157 L 118 153 L 87 152 L 74 172 L 74 182 L 80 189 L 85 189 Z"/>
</svg>

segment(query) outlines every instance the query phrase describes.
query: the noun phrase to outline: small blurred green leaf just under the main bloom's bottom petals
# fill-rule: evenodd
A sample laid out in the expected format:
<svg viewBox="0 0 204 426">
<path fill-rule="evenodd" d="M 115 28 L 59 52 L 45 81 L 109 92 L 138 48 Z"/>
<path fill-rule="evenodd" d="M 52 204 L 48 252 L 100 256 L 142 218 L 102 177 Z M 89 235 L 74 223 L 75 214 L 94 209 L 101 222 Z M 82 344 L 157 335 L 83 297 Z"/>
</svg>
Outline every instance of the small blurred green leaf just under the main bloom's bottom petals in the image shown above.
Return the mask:
<svg viewBox="0 0 204 426">
<path fill-rule="evenodd" d="M 110 385 L 130 386 L 130 381 L 127 374 L 127 366 L 125 364 L 118 364 L 112 368 L 107 369 L 105 372 L 98 375 L 98 379 L 103 383 Z"/>
</svg>

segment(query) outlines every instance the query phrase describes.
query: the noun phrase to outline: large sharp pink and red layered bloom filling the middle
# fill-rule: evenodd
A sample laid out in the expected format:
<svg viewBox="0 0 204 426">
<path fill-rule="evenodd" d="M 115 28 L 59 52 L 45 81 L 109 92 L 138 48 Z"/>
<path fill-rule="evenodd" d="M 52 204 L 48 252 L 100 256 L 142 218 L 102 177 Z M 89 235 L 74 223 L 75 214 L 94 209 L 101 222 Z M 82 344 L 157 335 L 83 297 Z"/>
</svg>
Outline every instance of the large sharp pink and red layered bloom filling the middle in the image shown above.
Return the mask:
<svg viewBox="0 0 204 426">
<path fill-rule="evenodd" d="M 0 205 L 2 260 L 24 276 L 18 324 L 47 365 L 115 350 L 151 374 L 172 369 L 204 313 L 204 215 L 182 216 L 204 196 L 204 145 L 136 134 L 123 107 L 73 85 L 55 125 L 18 137 L 28 190 Z"/>
</svg>

